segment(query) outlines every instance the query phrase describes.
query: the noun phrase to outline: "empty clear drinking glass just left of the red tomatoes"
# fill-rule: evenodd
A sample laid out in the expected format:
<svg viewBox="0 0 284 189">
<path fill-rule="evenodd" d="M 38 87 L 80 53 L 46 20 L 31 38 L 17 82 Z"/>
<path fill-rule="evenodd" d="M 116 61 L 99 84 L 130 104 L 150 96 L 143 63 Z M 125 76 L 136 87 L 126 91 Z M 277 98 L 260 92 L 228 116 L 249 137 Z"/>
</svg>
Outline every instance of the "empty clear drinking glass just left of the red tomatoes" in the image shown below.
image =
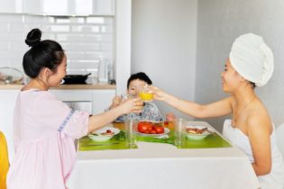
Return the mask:
<svg viewBox="0 0 284 189">
<path fill-rule="evenodd" d="M 126 120 L 125 121 L 125 141 L 126 145 L 130 148 L 136 147 L 136 130 L 138 121 Z"/>
</svg>

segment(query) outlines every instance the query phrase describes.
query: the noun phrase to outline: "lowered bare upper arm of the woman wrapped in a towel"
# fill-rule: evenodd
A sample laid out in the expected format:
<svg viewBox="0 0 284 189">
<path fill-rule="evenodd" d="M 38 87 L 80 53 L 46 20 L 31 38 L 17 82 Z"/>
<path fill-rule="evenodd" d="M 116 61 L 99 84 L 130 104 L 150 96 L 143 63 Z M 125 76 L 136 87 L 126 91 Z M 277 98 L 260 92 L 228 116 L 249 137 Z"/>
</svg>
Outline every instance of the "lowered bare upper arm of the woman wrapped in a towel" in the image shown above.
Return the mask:
<svg viewBox="0 0 284 189">
<path fill-rule="evenodd" d="M 266 175 L 271 171 L 271 123 L 265 118 L 266 116 L 254 115 L 250 116 L 247 121 L 247 133 L 252 145 L 252 154 L 254 158 L 252 167 L 256 175 Z"/>
</svg>

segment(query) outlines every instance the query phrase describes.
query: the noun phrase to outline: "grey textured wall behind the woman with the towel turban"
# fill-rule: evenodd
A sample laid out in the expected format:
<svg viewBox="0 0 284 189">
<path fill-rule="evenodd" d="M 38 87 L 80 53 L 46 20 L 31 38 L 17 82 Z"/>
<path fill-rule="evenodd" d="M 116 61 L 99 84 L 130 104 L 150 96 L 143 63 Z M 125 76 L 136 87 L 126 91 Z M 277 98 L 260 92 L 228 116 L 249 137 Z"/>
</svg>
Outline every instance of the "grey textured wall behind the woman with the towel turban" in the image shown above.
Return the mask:
<svg viewBox="0 0 284 189">
<path fill-rule="evenodd" d="M 256 89 L 275 125 L 284 122 L 284 1 L 199 0 L 197 21 L 196 101 L 223 98 L 220 73 L 236 37 L 261 35 L 274 53 L 275 71 L 268 85 Z M 210 119 L 221 130 L 224 118 Z"/>
</svg>

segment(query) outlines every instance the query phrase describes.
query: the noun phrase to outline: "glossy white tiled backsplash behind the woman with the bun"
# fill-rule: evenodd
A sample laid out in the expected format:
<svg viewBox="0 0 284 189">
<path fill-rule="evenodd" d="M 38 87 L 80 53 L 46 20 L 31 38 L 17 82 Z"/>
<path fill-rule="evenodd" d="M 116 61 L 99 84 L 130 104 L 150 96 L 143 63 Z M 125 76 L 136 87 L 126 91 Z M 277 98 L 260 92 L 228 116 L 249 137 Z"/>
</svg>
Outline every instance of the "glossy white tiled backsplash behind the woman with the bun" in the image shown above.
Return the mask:
<svg viewBox="0 0 284 189">
<path fill-rule="evenodd" d="M 42 31 L 42 40 L 57 40 L 66 50 L 69 74 L 97 76 L 99 59 L 113 67 L 113 17 L 50 17 L 0 14 L 0 67 L 23 71 L 23 54 L 29 49 L 24 39 L 33 28 Z"/>
</svg>

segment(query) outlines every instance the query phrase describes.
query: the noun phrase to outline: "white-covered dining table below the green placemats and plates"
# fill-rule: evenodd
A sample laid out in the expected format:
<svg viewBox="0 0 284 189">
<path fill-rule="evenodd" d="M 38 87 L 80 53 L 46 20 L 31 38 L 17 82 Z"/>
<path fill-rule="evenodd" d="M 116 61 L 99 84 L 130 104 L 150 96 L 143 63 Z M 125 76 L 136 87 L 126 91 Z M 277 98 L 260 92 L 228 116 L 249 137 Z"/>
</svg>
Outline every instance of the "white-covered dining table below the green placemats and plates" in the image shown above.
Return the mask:
<svg viewBox="0 0 284 189">
<path fill-rule="evenodd" d="M 255 189 L 249 159 L 237 148 L 179 149 L 138 142 L 137 149 L 78 151 L 69 189 Z"/>
</svg>

